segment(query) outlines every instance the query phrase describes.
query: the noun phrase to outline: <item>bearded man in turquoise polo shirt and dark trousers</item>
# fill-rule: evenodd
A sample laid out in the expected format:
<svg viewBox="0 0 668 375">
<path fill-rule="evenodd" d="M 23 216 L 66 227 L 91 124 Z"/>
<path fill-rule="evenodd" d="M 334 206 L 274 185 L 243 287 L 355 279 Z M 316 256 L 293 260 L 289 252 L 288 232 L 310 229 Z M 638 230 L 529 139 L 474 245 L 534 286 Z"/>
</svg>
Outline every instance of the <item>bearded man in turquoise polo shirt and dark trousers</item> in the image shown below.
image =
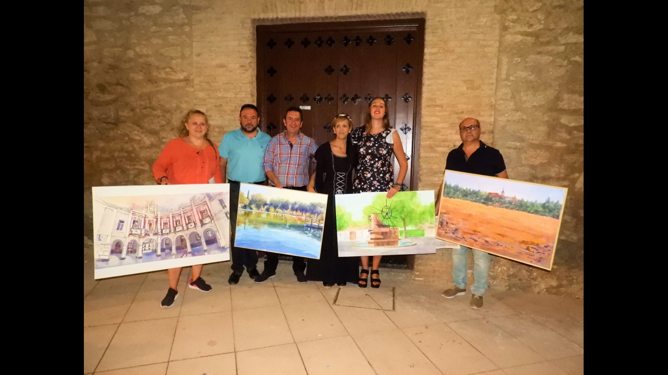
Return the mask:
<svg viewBox="0 0 668 375">
<path fill-rule="evenodd" d="M 239 128 L 226 132 L 222 136 L 218 151 L 220 152 L 220 172 L 222 180 L 227 178 L 230 183 L 230 244 L 234 243 L 236 233 L 236 211 L 239 205 L 240 182 L 249 184 L 265 184 L 267 176 L 263 168 L 265 150 L 271 136 L 257 128 L 260 116 L 253 104 L 244 104 L 239 111 Z M 260 275 L 257 271 L 257 251 L 232 246 L 232 273 L 227 280 L 230 285 L 239 282 L 244 273 L 255 279 Z"/>
</svg>

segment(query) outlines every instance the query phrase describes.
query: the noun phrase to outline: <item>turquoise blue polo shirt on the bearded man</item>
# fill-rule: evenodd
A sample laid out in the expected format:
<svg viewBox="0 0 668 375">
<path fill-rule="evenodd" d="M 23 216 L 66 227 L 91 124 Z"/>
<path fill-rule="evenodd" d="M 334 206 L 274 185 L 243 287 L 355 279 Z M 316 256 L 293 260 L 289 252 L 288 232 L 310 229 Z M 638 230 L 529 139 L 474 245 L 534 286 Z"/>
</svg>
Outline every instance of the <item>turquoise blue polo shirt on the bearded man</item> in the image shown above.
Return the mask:
<svg viewBox="0 0 668 375">
<path fill-rule="evenodd" d="M 227 159 L 227 178 L 238 182 L 264 181 L 265 150 L 271 136 L 257 129 L 253 139 L 248 139 L 241 129 L 231 130 L 222 136 L 218 152 L 221 158 Z"/>
</svg>

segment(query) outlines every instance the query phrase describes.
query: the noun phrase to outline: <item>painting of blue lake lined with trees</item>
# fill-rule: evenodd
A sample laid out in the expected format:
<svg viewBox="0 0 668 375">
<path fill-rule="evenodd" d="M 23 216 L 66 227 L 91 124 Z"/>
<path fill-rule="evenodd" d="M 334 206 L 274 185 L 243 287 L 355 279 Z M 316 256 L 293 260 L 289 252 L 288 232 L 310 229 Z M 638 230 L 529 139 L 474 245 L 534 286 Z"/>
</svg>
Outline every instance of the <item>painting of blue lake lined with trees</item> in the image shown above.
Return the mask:
<svg viewBox="0 0 668 375">
<path fill-rule="evenodd" d="M 241 183 L 234 246 L 320 259 L 327 195 Z"/>
</svg>

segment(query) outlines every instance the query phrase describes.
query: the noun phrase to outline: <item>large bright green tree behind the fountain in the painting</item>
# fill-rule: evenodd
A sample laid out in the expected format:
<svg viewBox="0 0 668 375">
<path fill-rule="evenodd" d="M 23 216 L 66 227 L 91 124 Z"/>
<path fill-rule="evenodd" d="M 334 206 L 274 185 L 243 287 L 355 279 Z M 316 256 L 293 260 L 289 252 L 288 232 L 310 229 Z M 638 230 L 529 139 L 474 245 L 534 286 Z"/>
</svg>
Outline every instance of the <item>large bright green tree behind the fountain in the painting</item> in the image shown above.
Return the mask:
<svg viewBox="0 0 668 375">
<path fill-rule="evenodd" d="M 397 193 L 392 199 L 379 194 L 371 205 L 364 207 L 362 213 L 365 217 L 377 214 L 385 225 L 396 227 L 403 225 L 403 237 L 408 237 L 407 229 L 415 228 L 424 223 L 434 220 L 434 203 L 423 205 L 416 191 L 405 191 Z M 338 222 L 337 214 L 337 222 Z M 399 221 L 399 223 L 397 223 Z"/>
</svg>

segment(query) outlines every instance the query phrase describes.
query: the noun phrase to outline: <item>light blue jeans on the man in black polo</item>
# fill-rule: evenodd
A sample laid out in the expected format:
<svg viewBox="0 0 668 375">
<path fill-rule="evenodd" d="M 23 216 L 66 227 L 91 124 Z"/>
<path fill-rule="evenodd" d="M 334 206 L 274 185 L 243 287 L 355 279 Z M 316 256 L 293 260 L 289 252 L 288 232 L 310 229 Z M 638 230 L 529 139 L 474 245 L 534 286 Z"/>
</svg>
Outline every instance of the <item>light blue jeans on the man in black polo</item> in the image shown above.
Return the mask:
<svg viewBox="0 0 668 375">
<path fill-rule="evenodd" d="M 457 287 L 466 289 L 466 250 L 470 247 L 460 245 L 459 249 L 452 249 L 452 281 Z M 487 275 L 490 273 L 492 256 L 484 251 L 473 251 L 473 285 L 471 292 L 475 295 L 484 295 L 487 291 Z"/>
</svg>

